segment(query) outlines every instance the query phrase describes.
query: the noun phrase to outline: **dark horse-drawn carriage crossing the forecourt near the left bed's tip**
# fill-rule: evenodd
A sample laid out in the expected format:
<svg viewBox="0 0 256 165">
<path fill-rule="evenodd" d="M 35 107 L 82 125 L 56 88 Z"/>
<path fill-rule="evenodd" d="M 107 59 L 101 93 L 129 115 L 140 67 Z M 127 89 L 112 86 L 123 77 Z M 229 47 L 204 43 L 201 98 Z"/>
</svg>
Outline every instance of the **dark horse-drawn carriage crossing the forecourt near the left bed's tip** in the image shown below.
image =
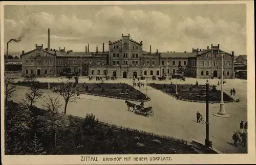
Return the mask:
<svg viewBox="0 0 256 165">
<path fill-rule="evenodd" d="M 134 112 L 136 115 L 143 115 L 143 116 L 153 116 L 154 110 L 152 106 L 143 107 L 141 104 L 136 105 L 135 103 L 129 102 L 125 100 L 125 103 L 127 105 L 128 111 L 131 111 L 131 107 L 133 108 L 131 112 Z"/>
</svg>

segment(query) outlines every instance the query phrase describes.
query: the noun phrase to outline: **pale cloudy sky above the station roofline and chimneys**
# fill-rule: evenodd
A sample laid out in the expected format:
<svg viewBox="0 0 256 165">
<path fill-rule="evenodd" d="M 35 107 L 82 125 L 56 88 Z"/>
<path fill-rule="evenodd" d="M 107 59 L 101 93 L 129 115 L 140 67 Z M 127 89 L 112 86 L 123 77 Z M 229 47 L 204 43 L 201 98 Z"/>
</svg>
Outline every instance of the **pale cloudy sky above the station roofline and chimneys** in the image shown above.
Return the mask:
<svg viewBox="0 0 256 165">
<path fill-rule="evenodd" d="M 108 42 L 130 34 L 143 49 L 191 52 L 220 44 L 235 56 L 246 54 L 245 4 L 220 5 L 26 5 L 4 7 L 4 40 L 9 51 L 30 51 L 35 44 L 85 51 L 108 50 Z M 6 52 L 6 50 L 5 50 Z"/>
</svg>

